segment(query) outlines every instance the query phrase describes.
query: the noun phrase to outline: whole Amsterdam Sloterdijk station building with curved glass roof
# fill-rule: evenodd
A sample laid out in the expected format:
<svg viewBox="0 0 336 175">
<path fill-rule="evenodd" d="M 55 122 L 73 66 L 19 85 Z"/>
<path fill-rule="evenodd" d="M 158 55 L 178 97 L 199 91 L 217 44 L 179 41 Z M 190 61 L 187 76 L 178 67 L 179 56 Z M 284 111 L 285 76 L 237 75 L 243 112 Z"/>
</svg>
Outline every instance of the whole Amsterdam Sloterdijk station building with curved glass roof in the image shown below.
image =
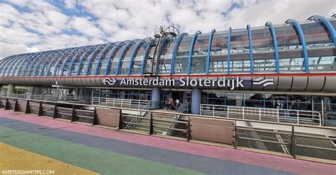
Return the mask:
<svg viewBox="0 0 336 175">
<path fill-rule="evenodd" d="M 191 114 L 216 105 L 333 112 L 335 17 L 194 33 L 169 26 L 145 39 L 8 56 L 1 93 L 155 109 L 172 99 Z"/>
</svg>

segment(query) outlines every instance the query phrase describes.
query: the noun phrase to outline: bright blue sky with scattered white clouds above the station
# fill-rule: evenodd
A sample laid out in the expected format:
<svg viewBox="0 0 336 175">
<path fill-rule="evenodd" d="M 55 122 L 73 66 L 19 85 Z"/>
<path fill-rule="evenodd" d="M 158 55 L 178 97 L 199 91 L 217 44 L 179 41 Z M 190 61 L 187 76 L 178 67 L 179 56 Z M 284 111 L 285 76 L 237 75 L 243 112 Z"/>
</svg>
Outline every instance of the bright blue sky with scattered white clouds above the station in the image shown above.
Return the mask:
<svg viewBox="0 0 336 175">
<path fill-rule="evenodd" d="M 336 0 L 0 0 L 0 59 L 153 37 L 160 25 L 193 35 L 335 13 Z"/>
</svg>

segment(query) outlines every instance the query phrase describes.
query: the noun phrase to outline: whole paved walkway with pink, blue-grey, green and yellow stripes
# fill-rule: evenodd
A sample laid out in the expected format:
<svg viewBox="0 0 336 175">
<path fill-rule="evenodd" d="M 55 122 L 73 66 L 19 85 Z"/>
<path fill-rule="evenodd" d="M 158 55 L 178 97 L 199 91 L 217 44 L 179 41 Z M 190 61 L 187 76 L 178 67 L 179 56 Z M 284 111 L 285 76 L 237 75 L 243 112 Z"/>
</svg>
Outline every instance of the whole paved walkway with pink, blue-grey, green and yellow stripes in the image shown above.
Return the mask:
<svg viewBox="0 0 336 175">
<path fill-rule="evenodd" d="M 20 164 L 10 167 L 1 163 L 11 159 L 9 152 L 16 147 L 19 155 L 28 155 L 26 162 L 43 156 L 69 164 L 74 171 L 84 174 L 334 174 L 336 171 L 331 164 L 112 131 L 3 110 L 0 110 L 0 142 L 4 147 L 0 151 L 0 170 L 20 169 Z M 57 169 L 55 173 L 63 174 L 57 173 Z"/>
</svg>

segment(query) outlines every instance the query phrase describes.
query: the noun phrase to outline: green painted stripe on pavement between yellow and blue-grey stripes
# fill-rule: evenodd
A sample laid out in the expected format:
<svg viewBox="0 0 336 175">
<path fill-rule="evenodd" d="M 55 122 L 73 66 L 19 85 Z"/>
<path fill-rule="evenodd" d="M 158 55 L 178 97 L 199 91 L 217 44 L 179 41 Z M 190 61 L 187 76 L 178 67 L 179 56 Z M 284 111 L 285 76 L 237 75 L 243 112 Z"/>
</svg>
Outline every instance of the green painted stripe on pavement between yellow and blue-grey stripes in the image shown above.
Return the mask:
<svg viewBox="0 0 336 175">
<path fill-rule="evenodd" d="M 0 126 L 0 141 L 101 174 L 200 174 L 168 164 Z M 111 145 L 113 146 L 113 145 Z"/>
</svg>

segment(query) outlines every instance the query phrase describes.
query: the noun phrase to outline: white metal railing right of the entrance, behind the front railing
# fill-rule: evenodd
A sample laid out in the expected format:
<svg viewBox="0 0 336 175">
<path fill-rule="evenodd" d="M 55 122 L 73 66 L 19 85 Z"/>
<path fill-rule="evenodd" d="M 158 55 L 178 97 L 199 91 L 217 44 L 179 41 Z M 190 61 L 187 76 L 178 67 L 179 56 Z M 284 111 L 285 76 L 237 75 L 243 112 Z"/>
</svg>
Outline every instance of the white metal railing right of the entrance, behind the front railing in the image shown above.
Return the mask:
<svg viewBox="0 0 336 175">
<path fill-rule="evenodd" d="M 232 119 L 274 121 L 277 123 L 305 123 L 311 125 L 318 124 L 319 126 L 322 124 L 321 114 L 318 111 L 201 104 L 200 114 Z"/>
</svg>

